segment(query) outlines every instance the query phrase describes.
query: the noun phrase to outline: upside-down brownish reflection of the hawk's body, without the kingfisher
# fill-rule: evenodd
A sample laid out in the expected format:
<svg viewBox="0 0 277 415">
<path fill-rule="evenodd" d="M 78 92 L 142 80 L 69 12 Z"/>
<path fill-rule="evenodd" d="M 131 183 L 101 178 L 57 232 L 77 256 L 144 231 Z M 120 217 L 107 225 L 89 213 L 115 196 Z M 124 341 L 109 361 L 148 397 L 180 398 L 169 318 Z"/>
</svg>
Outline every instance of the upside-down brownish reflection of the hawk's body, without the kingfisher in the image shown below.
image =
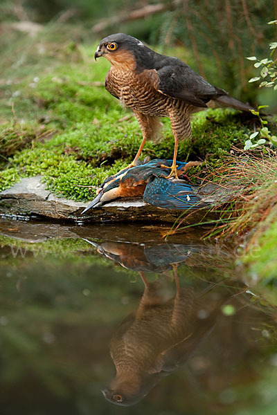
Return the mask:
<svg viewBox="0 0 277 415">
<path fill-rule="evenodd" d="M 222 299 L 203 318 L 203 295 L 195 294 L 193 287 L 180 288 L 177 266 L 173 268 L 175 297 L 168 297 L 159 281 L 149 283 L 140 273 L 145 291 L 139 308 L 111 339 L 116 377 L 102 390 L 111 403 L 127 406 L 139 402 L 161 377 L 188 360 L 215 324 Z"/>
</svg>

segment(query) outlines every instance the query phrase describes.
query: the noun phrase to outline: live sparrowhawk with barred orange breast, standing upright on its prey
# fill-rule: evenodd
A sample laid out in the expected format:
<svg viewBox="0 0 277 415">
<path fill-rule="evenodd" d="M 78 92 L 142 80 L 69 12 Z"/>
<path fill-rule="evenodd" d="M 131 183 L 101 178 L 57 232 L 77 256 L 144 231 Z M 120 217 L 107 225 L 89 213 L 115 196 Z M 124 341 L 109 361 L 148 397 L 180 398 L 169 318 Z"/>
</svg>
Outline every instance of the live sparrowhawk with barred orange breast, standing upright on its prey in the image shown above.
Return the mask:
<svg viewBox="0 0 277 415">
<path fill-rule="evenodd" d="M 206 82 L 176 57 L 160 55 L 123 33 L 102 39 L 94 56 L 105 56 L 111 62 L 106 89 L 133 109 L 141 126 L 143 141 L 132 165 L 139 158 L 145 141 L 157 133 L 158 117 L 170 118 L 175 152 L 169 176 L 177 177 L 178 141 L 191 136 L 190 113 L 206 107 L 210 100 L 242 111 L 252 108 Z"/>
</svg>

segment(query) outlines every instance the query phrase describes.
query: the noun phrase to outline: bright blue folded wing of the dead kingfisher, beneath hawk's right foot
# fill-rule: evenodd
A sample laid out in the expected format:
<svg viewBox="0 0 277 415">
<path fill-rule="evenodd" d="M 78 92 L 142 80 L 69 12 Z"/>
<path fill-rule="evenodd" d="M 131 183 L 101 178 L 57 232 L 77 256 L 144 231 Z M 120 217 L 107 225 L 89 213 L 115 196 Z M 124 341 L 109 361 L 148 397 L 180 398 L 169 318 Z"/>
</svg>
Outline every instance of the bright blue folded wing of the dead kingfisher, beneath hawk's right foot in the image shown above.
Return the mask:
<svg viewBox="0 0 277 415">
<path fill-rule="evenodd" d="M 201 199 L 193 193 L 190 185 L 155 176 L 145 187 L 143 200 L 163 209 L 194 209 L 201 204 Z"/>
</svg>

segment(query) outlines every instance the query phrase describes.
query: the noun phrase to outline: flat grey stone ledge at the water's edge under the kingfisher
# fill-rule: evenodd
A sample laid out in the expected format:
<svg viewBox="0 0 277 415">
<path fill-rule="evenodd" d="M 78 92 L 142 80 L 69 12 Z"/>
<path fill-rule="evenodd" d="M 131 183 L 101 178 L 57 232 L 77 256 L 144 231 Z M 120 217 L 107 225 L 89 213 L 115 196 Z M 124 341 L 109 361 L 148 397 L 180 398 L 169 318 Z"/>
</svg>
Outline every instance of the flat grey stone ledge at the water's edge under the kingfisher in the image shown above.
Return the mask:
<svg viewBox="0 0 277 415">
<path fill-rule="evenodd" d="M 228 193 L 222 187 L 206 185 L 197 190 L 197 195 L 208 203 L 215 205 L 228 199 Z M 91 215 L 82 216 L 80 213 L 88 203 L 75 202 L 69 199 L 57 198 L 41 182 L 41 176 L 23 178 L 10 189 L 0 193 L 0 214 L 4 215 L 38 215 L 55 219 L 70 219 L 73 221 L 175 221 L 180 216 L 179 210 L 159 209 L 147 205 L 142 199 L 124 199 L 107 203 L 98 209 L 93 209 Z M 215 219 L 215 214 L 204 210 L 186 212 L 186 223 L 195 223 L 202 217 Z"/>
</svg>

